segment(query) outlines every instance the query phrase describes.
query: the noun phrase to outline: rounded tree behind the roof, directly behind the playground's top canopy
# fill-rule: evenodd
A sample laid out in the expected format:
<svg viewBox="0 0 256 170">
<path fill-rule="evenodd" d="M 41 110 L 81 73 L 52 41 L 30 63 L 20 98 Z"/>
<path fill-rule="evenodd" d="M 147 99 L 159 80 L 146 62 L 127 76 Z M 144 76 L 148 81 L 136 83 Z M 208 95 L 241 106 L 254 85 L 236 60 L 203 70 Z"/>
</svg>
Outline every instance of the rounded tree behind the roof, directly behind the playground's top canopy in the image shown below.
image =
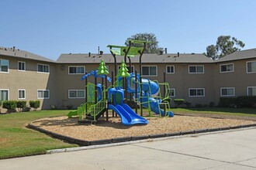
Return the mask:
<svg viewBox="0 0 256 170">
<path fill-rule="evenodd" d="M 157 37 L 154 35 L 154 33 L 137 33 L 136 35 L 131 36 L 130 38 L 126 39 L 125 45 L 129 46 L 129 40 L 142 40 L 151 42 L 147 44 L 147 47 L 144 51 L 144 53 L 159 53 L 163 50 L 163 48 L 158 46 Z M 137 44 L 134 43 L 133 46 L 136 47 L 143 47 L 143 44 Z"/>
</svg>

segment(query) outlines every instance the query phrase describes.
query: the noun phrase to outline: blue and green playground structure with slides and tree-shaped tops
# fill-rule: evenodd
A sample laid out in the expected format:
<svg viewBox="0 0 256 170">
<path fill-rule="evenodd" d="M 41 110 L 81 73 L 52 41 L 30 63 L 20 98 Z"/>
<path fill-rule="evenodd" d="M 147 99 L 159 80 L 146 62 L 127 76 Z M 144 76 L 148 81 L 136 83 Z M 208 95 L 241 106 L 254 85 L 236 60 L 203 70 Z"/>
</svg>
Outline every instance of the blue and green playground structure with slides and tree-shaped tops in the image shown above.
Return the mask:
<svg viewBox="0 0 256 170">
<path fill-rule="evenodd" d="M 131 43 L 143 43 L 144 47 L 133 47 Z M 78 110 L 71 111 L 67 116 L 78 115 L 79 123 L 95 124 L 99 117 L 104 116 L 104 113 L 106 113 L 106 121 L 109 121 L 109 110 L 112 110 L 112 116 L 114 117 L 115 111 L 124 125 L 148 124 L 147 119 L 143 117 L 143 107 L 146 107 L 148 109 L 148 116 L 152 116 L 153 111 L 161 116 L 173 117 L 174 114 L 168 111 L 170 109 L 168 102 L 170 100 L 169 84 L 165 82 L 158 83 L 157 81 L 144 79 L 141 76 L 141 57 L 147 43 L 145 41 L 130 40 L 129 46 L 109 45 L 108 47 L 115 62 L 115 73 L 112 72 L 112 79 L 107 76 L 109 71 L 102 59 L 98 70 L 92 70 L 81 77 L 81 80 L 85 80 L 86 84 L 85 104 L 81 104 Z M 119 73 L 117 73 L 116 55 L 124 56 L 124 61 L 119 66 Z M 140 55 L 140 73 L 137 73 L 137 70 L 135 70 L 135 73 L 129 73 L 129 70 L 126 68 L 126 58 L 129 59 L 131 68 L 130 57 L 136 55 Z M 94 76 L 95 83 L 88 83 L 88 76 Z M 97 77 L 102 78 L 102 84 L 97 83 Z M 105 84 L 103 84 L 104 81 Z M 112 82 L 112 85 L 108 87 L 107 81 Z M 163 97 L 161 97 L 160 86 L 164 87 Z M 127 93 L 130 94 L 130 97 L 127 97 Z M 128 99 L 130 103 L 131 101 L 135 103 L 135 111 L 126 104 Z M 137 114 L 138 106 L 140 106 L 140 116 Z"/>
</svg>

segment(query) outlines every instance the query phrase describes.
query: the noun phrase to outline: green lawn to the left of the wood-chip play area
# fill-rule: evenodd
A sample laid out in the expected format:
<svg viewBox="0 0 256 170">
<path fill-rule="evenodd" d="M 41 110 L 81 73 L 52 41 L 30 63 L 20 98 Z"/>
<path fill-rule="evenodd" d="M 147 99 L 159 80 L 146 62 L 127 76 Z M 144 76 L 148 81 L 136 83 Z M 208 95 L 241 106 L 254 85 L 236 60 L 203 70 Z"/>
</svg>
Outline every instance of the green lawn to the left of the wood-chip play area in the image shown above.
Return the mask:
<svg viewBox="0 0 256 170">
<path fill-rule="evenodd" d="M 42 117 L 67 115 L 70 110 L 41 110 L 0 115 L 0 159 L 44 154 L 49 149 L 76 147 L 26 128 Z"/>
</svg>

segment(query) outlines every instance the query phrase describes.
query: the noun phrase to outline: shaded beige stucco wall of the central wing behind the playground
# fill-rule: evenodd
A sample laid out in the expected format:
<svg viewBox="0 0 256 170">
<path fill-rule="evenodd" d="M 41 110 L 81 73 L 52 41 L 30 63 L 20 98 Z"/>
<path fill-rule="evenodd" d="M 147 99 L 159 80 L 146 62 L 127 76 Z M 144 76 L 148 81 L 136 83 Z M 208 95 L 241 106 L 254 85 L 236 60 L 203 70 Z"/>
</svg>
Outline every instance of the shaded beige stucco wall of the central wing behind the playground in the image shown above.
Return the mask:
<svg viewBox="0 0 256 170">
<path fill-rule="evenodd" d="M 111 72 L 114 71 L 114 65 L 106 65 L 109 66 L 109 76 L 111 76 Z M 204 73 L 189 73 L 189 65 L 203 65 Z M 97 70 L 99 64 L 57 64 L 58 107 L 66 107 L 68 104 L 77 107 L 85 102 L 85 99 L 68 98 L 68 90 L 85 89 L 85 81 L 80 80 L 83 75 L 68 74 L 68 66 L 85 66 L 85 70 L 90 72 L 91 70 Z M 139 73 L 139 64 L 132 64 L 132 66 L 134 66 L 134 69 Z M 174 98 L 183 98 L 192 104 L 209 104 L 210 102 L 215 102 L 215 93 L 213 91 L 213 64 L 144 63 L 143 66 L 157 66 L 157 76 L 144 76 L 144 78 L 157 80 L 159 83 L 164 82 L 164 71 L 166 71 L 166 66 L 175 66 L 175 73 L 166 74 L 166 81 L 170 84 L 171 88 L 175 88 L 176 96 Z M 64 70 L 61 70 L 61 67 L 64 68 Z M 102 82 L 100 78 L 97 80 L 98 83 Z M 94 83 L 94 77 L 88 77 L 88 82 Z M 189 97 L 189 88 L 204 88 L 205 96 Z M 163 87 L 161 87 L 161 92 L 163 92 Z"/>
</svg>

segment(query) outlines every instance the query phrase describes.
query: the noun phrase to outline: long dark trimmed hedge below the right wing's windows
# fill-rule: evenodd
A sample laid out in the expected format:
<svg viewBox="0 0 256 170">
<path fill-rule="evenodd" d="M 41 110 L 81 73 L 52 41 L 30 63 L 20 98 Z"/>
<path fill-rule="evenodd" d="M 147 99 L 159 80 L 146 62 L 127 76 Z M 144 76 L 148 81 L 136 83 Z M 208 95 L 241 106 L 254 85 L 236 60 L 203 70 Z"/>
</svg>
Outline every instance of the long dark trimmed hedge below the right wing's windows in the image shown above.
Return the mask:
<svg viewBox="0 0 256 170">
<path fill-rule="evenodd" d="M 220 97 L 220 107 L 256 107 L 256 96 Z"/>
</svg>

